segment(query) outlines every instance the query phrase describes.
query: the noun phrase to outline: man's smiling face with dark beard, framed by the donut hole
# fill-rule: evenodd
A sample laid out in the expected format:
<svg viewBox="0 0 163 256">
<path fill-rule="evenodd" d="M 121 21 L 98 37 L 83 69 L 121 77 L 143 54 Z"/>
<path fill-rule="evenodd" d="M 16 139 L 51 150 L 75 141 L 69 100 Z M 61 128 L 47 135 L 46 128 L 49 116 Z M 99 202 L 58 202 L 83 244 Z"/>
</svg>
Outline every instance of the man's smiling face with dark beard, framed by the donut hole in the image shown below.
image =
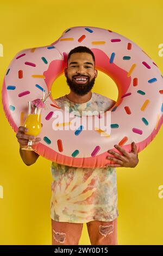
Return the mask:
<svg viewBox="0 0 163 256">
<path fill-rule="evenodd" d="M 77 52 L 70 56 L 65 69 L 67 84 L 78 95 L 88 93 L 95 83 L 97 70 L 90 53 Z"/>
</svg>

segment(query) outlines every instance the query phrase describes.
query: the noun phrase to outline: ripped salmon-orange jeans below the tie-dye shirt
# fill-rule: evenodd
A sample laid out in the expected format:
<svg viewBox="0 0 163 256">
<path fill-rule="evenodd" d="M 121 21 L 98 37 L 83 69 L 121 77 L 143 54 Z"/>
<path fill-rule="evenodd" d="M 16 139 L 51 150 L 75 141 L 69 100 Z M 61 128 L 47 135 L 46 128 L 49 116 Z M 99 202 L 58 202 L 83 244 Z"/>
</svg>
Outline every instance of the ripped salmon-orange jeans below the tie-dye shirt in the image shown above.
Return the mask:
<svg viewBox="0 0 163 256">
<path fill-rule="evenodd" d="M 91 245 L 117 245 L 117 218 L 114 221 L 86 223 Z M 78 245 L 83 223 L 52 220 L 52 245 Z"/>
</svg>

